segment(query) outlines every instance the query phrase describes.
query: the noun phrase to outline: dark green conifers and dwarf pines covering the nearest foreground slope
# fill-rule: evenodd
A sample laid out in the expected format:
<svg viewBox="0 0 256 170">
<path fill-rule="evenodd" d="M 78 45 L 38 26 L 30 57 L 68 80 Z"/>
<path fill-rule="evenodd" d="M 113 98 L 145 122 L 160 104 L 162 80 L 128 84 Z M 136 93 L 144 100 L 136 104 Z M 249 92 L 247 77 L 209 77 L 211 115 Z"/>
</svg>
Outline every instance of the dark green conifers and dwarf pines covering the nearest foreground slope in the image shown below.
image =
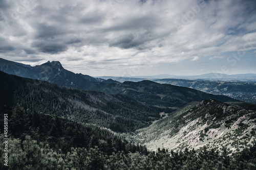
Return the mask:
<svg viewBox="0 0 256 170">
<path fill-rule="evenodd" d="M 110 130 L 57 116 L 28 112 L 20 106 L 0 106 L 9 118 L 9 162 L 5 169 L 255 169 L 256 143 L 229 156 L 226 149 L 150 152 Z M 3 122 L 0 122 L 3 127 Z M 0 135 L 0 140 L 4 140 Z"/>
</svg>

